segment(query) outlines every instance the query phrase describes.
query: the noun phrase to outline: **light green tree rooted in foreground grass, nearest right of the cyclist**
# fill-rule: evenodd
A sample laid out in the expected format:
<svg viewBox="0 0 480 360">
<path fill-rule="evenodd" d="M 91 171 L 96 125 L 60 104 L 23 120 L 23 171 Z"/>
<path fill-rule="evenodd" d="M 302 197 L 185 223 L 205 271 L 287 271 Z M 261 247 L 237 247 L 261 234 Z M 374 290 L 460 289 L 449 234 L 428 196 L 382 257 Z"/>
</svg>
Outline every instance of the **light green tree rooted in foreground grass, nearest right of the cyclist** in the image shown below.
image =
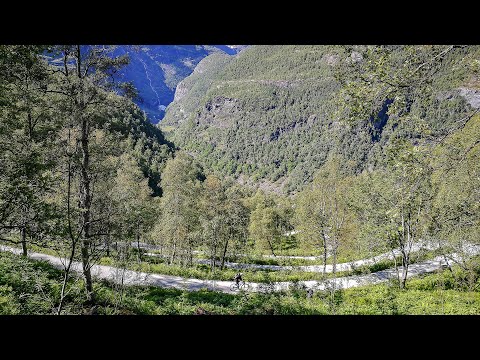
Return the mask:
<svg viewBox="0 0 480 360">
<path fill-rule="evenodd" d="M 412 246 L 427 235 L 431 221 L 429 151 L 399 139 L 389 147 L 387 167 L 364 173 L 352 194 L 362 233 L 373 247 L 400 251 L 401 273 L 396 261 L 395 268 L 401 288 L 406 286 Z"/>
</svg>

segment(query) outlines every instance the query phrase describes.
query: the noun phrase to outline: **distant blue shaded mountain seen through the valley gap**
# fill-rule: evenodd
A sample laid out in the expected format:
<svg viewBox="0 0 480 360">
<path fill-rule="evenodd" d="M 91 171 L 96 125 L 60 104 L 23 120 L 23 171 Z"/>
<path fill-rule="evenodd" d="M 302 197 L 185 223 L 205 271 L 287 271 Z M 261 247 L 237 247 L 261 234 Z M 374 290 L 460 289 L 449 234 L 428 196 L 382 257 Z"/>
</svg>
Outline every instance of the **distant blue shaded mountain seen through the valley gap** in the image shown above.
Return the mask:
<svg viewBox="0 0 480 360">
<path fill-rule="evenodd" d="M 130 64 L 122 80 L 132 81 L 139 92 L 137 105 L 153 123 L 160 121 L 173 100 L 177 84 L 213 53 L 235 55 L 244 45 L 138 45 L 119 46 L 115 55 L 128 53 Z"/>
</svg>

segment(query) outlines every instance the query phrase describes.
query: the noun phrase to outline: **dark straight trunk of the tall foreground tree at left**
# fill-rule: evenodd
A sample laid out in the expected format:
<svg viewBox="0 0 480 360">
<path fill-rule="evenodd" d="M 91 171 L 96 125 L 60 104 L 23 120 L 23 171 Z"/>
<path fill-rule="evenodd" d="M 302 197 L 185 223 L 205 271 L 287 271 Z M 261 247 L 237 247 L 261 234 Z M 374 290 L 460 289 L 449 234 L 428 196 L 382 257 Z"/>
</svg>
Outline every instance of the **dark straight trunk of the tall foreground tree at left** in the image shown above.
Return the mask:
<svg viewBox="0 0 480 360">
<path fill-rule="evenodd" d="M 90 190 L 90 153 L 89 153 L 89 124 L 87 119 L 82 119 L 82 132 L 81 132 L 81 151 L 82 162 L 80 171 L 80 193 L 79 193 L 79 207 L 81 209 L 80 214 L 80 238 L 81 238 L 81 254 L 82 254 L 82 269 L 85 280 L 85 291 L 87 297 L 87 303 L 94 302 L 92 274 L 90 272 L 90 209 L 91 209 L 91 190 Z"/>
</svg>

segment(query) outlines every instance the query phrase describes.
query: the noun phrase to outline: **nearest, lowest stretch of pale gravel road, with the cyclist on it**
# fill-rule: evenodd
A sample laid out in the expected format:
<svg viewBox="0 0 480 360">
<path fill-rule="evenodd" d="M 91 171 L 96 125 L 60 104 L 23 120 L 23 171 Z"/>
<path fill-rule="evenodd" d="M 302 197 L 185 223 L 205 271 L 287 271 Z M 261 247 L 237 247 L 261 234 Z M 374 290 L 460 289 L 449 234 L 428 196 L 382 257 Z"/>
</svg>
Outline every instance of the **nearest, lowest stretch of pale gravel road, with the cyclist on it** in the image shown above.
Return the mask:
<svg viewBox="0 0 480 360">
<path fill-rule="evenodd" d="M 9 251 L 14 254 L 21 254 L 21 249 L 11 246 L 0 245 L 0 251 Z M 471 254 L 480 254 L 480 245 L 471 245 L 466 251 Z M 59 258 L 52 255 L 41 254 L 36 252 L 30 252 L 28 255 L 34 260 L 43 260 L 51 263 L 53 266 L 59 269 L 64 269 L 66 259 Z M 460 255 L 450 254 L 448 256 L 450 260 L 458 260 Z M 367 259 L 368 260 L 368 259 Z M 441 269 L 447 265 L 444 256 L 437 256 L 433 260 L 423 261 L 420 263 L 412 264 L 408 268 L 408 278 L 419 274 L 433 272 L 437 269 Z M 77 273 L 81 273 L 82 266 L 80 262 L 72 263 L 72 270 Z M 119 269 L 113 266 L 105 265 L 93 265 L 91 268 L 92 276 L 97 279 L 105 279 L 116 283 L 122 283 L 125 285 L 150 285 L 158 287 L 173 287 L 188 291 L 197 291 L 202 288 L 209 290 L 221 291 L 224 293 L 232 293 L 230 286 L 233 281 L 215 281 L 215 280 L 199 280 L 199 279 L 185 279 L 179 276 L 149 274 L 140 271 Z M 336 288 L 347 289 L 351 287 L 357 287 L 362 285 L 377 284 L 395 278 L 397 273 L 395 269 L 387 269 L 378 271 L 376 273 L 367 275 L 346 276 L 336 279 L 330 279 L 327 281 L 300 281 L 300 285 L 304 285 L 309 289 L 323 290 L 328 286 L 331 286 L 335 282 Z M 249 291 L 264 291 L 266 284 L 262 283 L 249 283 Z M 292 282 L 276 282 L 272 284 L 273 291 L 286 290 L 293 285 Z"/>
</svg>

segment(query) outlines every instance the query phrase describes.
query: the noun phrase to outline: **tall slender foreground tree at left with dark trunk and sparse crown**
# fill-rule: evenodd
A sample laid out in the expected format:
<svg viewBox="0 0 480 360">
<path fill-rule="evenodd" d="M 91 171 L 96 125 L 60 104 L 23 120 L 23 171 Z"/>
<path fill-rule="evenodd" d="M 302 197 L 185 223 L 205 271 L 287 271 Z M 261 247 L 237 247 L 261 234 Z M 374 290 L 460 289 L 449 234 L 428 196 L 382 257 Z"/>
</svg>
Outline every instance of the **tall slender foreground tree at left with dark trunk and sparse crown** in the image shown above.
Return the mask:
<svg viewBox="0 0 480 360">
<path fill-rule="evenodd" d="M 119 99 L 112 91 L 131 93 L 130 87 L 114 81 L 115 73 L 128 63 L 128 57 L 115 57 L 113 51 L 111 46 L 58 46 L 53 55 L 59 57 L 62 66 L 56 68 L 56 81 L 47 90 L 60 95 L 58 107 L 67 119 L 65 128 L 70 142 L 74 139 L 78 144 L 69 155 L 74 165 L 70 175 L 78 181 L 76 225 L 89 303 L 94 302 L 90 252 L 98 238 L 92 224 L 99 221 L 96 215 L 100 215 L 92 214 L 92 182 L 98 174 L 95 165 L 99 163 L 92 161 L 97 160 L 92 159 L 92 139 L 101 136 L 98 130 L 109 123 L 112 111 L 119 106 Z"/>
</svg>

